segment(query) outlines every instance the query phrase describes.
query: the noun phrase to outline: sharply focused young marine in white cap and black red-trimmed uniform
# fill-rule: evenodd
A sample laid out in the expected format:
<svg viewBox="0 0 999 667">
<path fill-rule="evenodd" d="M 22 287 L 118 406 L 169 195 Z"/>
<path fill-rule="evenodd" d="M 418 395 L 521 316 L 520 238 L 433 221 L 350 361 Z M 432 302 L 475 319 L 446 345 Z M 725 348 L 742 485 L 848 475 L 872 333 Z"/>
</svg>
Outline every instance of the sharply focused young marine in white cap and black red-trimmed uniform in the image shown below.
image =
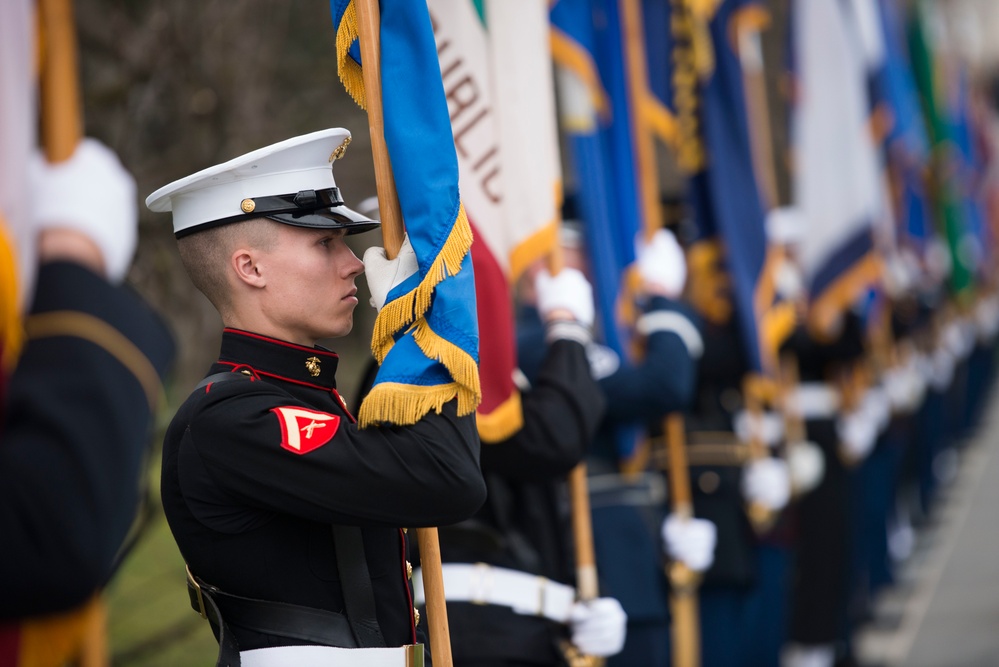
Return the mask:
<svg viewBox="0 0 999 667">
<path fill-rule="evenodd" d="M 222 315 L 218 361 L 164 443 L 164 511 L 219 664 L 408 665 L 423 658 L 406 527 L 482 504 L 473 416 L 360 430 L 336 353 L 364 270 L 345 243 L 377 227 L 331 171 L 350 134 L 314 132 L 161 188 L 184 265 Z M 369 250 L 369 253 L 371 251 Z M 369 260 L 373 303 L 416 271 L 407 241 Z M 363 650 L 358 650 L 363 649 Z"/>
</svg>

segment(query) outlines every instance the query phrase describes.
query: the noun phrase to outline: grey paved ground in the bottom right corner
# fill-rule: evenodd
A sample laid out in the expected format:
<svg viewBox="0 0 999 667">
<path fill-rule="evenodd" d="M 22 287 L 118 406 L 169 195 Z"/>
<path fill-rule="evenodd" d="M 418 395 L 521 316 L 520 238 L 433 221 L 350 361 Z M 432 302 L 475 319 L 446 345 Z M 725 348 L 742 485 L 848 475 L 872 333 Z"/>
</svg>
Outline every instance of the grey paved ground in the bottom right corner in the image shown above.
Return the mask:
<svg viewBox="0 0 999 667">
<path fill-rule="evenodd" d="M 858 637 L 863 664 L 999 666 L 999 393 L 985 414 L 899 585 Z"/>
</svg>

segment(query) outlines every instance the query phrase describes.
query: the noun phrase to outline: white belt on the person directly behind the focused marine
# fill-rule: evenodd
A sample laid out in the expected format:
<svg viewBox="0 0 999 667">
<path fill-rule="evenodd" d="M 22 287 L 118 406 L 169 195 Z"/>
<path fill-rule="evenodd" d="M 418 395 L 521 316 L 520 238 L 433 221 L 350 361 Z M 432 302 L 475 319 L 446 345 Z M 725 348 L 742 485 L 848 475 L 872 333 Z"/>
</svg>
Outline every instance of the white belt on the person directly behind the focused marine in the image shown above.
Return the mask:
<svg viewBox="0 0 999 667">
<path fill-rule="evenodd" d="M 486 563 L 445 563 L 441 570 L 448 602 L 496 604 L 510 607 L 518 614 L 567 623 L 576 601 L 576 591 L 571 586 L 526 572 Z M 416 574 L 413 595 L 417 606 L 424 604 L 423 579 Z"/>
</svg>

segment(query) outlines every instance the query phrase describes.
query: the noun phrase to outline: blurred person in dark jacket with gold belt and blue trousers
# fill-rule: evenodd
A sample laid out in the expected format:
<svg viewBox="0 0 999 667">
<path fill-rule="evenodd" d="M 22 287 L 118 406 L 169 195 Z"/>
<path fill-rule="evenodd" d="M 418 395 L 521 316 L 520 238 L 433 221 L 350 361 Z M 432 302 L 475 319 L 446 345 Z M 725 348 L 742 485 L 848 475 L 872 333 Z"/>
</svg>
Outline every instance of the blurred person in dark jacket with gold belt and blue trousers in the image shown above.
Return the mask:
<svg viewBox="0 0 999 667">
<path fill-rule="evenodd" d="M 695 515 L 718 527 L 715 560 L 698 589 L 702 662 L 774 665 L 786 636 L 791 536 L 782 511 L 791 499 L 791 470 L 780 415 L 747 410 L 749 362 L 718 243 L 688 247 L 694 267 L 688 295 L 704 321 L 704 355 L 687 420 L 691 487 Z M 761 398 L 761 409 L 764 403 Z M 754 524 L 750 507 L 766 520 Z"/>
</svg>

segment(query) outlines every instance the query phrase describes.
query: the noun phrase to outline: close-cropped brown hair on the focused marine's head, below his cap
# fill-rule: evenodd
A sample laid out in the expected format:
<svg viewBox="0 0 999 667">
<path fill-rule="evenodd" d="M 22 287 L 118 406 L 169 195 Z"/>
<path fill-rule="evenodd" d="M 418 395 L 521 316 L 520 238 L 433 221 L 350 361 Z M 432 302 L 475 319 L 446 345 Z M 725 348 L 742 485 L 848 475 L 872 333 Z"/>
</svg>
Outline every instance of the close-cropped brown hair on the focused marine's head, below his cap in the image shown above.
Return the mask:
<svg viewBox="0 0 999 667">
<path fill-rule="evenodd" d="M 197 232 L 177 240 L 177 250 L 191 282 L 208 297 L 223 319 L 232 309 L 232 294 L 226 278 L 229 260 L 239 245 L 269 250 L 275 243 L 274 225 L 255 218 Z"/>
</svg>

